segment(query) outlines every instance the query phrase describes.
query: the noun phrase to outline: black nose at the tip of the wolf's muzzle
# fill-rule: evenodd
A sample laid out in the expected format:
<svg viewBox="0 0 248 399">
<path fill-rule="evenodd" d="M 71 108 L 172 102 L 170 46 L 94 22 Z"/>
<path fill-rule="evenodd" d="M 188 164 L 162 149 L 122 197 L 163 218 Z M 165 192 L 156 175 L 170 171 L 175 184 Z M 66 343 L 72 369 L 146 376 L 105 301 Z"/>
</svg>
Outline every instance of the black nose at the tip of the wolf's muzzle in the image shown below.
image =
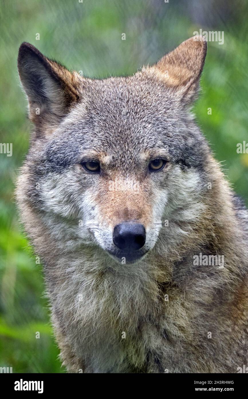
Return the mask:
<svg viewBox="0 0 248 399">
<path fill-rule="evenodd" d="M 145 242 L 145 227 L 140 223 L 124 222 L 114 228 L 113 243 L 121 250 L 137 251 Z"/>
</svg>

